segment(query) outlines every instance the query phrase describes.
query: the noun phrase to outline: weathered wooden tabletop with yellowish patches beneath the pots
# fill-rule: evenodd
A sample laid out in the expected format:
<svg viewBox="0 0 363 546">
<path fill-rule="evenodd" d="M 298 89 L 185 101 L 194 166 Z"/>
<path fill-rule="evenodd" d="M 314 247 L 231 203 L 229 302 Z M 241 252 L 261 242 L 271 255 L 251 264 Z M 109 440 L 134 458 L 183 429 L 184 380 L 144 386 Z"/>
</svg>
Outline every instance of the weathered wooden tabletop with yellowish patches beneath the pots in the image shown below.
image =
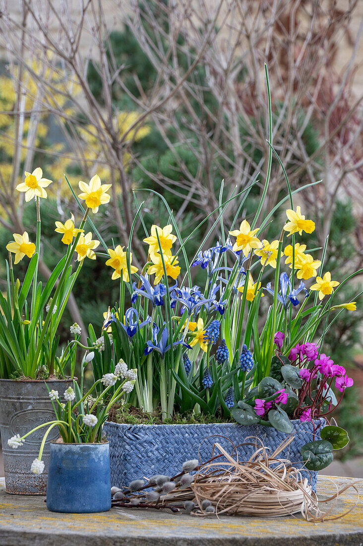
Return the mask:
<svg viewBox="0 0 363 546">
<path fill-rule="evenodd" d="M 318 494 L 330 496 L 353 478 L 322 476 Z M 363 480 L 360 500 L 346 517 L 307 523 L 294 517 L 197 518 L 186 514 L 142 509 L 111 509 L 99 514 L 57 514 L 46 509 L 44 497 L 7 495 L 0 488 L 1 546 L 362 546 Z M 325 497 L 326 498 L 326 497 Z M 346 491 L 335 513 L 352 508 L 357 495 Z"/>
</svg>

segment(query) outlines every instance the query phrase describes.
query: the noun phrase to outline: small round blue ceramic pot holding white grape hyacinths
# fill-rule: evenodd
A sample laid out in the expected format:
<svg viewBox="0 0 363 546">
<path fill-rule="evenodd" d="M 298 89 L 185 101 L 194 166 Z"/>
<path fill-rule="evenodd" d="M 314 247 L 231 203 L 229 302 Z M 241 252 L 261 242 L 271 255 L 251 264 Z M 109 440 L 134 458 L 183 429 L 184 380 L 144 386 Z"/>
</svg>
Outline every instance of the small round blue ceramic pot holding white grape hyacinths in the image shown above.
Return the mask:
<svg viewBox="0 0 363 546">
<path fill-rule="evenodd" d="M 111 508 L 109 443 L 50 442 L 46 506 L 51 512 L 106 512 Z"/>
</svg>

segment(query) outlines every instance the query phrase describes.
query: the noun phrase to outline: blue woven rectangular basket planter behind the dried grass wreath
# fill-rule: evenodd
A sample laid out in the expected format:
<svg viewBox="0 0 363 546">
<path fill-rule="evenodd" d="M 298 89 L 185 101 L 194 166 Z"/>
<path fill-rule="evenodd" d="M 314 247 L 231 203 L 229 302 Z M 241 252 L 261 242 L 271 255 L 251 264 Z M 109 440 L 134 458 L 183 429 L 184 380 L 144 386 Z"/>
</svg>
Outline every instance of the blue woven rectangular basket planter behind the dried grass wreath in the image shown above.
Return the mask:
<svg viewBox="0 0 363 546">
<path fill-rule="evenodd" d="M 291 423 L 294 426 L 295 439 L 278 458 L 288 458 L 294 467 L 303 468 L 300 449 L 307 442 L 320 439 L 319 430 L 324 426 L 325 419 L 314 421 L 317 429 L 315 438 L 312 422 L 301 423 L 300 420 L 294 420 Z M 106 422 L 103 431 L 110 442 L 111 485 L 117 487 L 128 485 L 131 480 L 143 476 L 151 477 L 153 474 L 174 476 L 188 459 L 207 461 L 212 456 L 215 442 L 220 443 L 228 453 L 232 453 L 233 446 L 230 441 L 237 446 L 247 436 L 257 436 L 272 453 L 288 436 L 268 426 L 242 426 L 233 423 L 126 425 Z M 248 460 L 254 451 L 254 445 L 239 447 L 240 460 Z M 308 478 L 315 491 L 318 472 L 303 470 L 301 473 Z"/>
</svg>

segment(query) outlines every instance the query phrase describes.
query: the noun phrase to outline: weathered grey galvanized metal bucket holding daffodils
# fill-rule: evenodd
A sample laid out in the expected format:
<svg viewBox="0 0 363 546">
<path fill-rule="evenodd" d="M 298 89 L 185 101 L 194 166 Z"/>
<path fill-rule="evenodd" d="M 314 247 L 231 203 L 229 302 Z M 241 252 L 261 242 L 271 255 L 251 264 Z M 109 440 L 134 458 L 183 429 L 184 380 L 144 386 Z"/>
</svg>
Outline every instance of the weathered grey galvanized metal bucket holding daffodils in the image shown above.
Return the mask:
<svg viewBox="0 0 363 546">
<path fill-rule="evenodd" d="M 58 429 L 51 430 L 45 443 L 42 460 L 45 468 L 35 476 L 30 468 L 38 458 L 41 440 L 46 427 L 28 436 L 17 449 L 8 446 L 8 440 L 15 434 L 20 436 L 41 423 L 55 419 L 49 389 L 57 390 L 59 396 L 73 385 L 70 379 L 55 381 L 0 379 L 0 432 L 3 449 L 5 485 L 7 493 L 13 495 L 45 495 L 49 465 L 49 443 L 58 437 Z"/>
</svg>

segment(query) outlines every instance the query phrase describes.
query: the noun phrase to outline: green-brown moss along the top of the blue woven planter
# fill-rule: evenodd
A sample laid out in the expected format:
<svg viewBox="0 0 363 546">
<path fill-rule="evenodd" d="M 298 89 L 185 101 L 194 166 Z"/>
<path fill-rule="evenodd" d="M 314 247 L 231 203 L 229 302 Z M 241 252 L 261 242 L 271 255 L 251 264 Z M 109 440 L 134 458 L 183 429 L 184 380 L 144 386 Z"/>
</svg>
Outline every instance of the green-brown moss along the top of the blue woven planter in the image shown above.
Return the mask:
<svg viewBox="0 0 363 546">
<path fill-rule="evenodd" d="M 115 405 L 109 412 L 108 420 L 112 423 L 124 423 L 129 425 L 194 425 L 209 423 L 235 423 L 232 418 L 216 416 L 206 416 L 203 413 L 188 413 L 181 415 L 175 413 L 172 419 L 163 421 L 161 408 L 157 408 L 152 413 L 147 413 L 140 408 L 128 405 Z"/>
</svg>

